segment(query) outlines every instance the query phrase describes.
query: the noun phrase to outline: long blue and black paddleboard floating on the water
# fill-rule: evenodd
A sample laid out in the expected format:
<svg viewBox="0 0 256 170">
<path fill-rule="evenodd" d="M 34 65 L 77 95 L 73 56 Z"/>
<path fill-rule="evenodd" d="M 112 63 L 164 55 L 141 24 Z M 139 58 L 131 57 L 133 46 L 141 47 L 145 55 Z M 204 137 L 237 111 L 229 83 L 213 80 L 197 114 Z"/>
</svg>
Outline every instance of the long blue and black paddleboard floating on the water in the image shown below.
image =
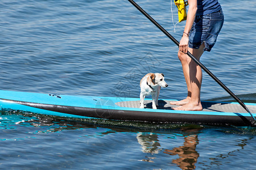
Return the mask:
<svg viewBox="0 0 256 170">
<path fill-rule="evenodd" d="M 195 123 L 210 125 L 248 126 L 253 121 L 238 103 L 202 101 L 203 111 L 174 111 L 170 100 L 159 100 L 158 109 L 152 109 L 152 100 L 145 100 L 139 108 L 138 98 L 93 97 L 30 92 L 0 91 L 0 107 L 64 117 L 107 118 L 147 122 Z M 246 103 L 256 117 L 256 104 Z"/>
</svg>

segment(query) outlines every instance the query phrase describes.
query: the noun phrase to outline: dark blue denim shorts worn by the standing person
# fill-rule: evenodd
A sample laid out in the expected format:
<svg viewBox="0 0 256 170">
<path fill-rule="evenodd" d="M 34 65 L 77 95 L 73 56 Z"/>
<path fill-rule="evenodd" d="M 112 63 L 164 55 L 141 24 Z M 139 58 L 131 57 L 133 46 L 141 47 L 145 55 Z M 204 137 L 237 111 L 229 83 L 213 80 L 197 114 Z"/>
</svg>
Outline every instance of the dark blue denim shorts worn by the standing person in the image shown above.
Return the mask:
<svg viewBox="0 0 256 170">
<path fill-rule="evenodd" d="M 189 33 L 189 48 L 199 49 L 204 42 L 204 50 L 210 52 L 224 23 L 222 10 L 212 14 L 196 16 Z"/>
</svg>

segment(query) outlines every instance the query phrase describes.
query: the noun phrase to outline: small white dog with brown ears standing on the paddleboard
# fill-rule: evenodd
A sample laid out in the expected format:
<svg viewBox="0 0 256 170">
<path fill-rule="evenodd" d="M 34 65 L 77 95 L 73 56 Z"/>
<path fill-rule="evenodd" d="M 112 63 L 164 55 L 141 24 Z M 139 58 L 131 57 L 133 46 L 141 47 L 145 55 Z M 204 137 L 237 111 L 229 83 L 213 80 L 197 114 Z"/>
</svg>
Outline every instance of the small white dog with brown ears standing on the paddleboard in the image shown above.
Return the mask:
<svg viewBox="0 0 256 170">
<path fill-rule="evenodd" d="M 148 73 L 141 79 L 140 87 L 140 108 L 144 108 L 145 96 L 152 95 L 152 108 L 156 109 L 160 88 L 168 87 L 168 84 L 164 81 L 164 75 L 162 73 Z"/>
</svg>

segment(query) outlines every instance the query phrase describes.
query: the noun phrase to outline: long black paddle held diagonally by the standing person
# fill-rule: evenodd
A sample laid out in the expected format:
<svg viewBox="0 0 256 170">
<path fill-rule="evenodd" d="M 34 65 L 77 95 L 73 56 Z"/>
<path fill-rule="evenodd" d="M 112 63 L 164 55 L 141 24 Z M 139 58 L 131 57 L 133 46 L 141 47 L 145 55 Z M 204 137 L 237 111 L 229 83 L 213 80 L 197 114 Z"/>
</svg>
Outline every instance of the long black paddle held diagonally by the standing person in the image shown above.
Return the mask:
<svg viewBox="0 0 256 170">
<path fill-rule="evenodd" d="M 150 15 L 147 14 L 147 12 L 145 12 L 137 3 L 135 3 L 133 0 L 128 0 L 131 4 L 133 4 L 139 11 L 142 12 L 142 14 L 144 16 L 146 16 L 153 24 L 156 25 L 156 27 L 158 27 L 167 37 L 169 37 L 177 46 L 179 46 L 179 41 L 177 41 L 174 37 L 172 37 L 170 35 L 170 33 L 168 33 L 166 31 L 166 29 L 164 29 L 160 24 L 158 24 Z M 228 92 L 235 100 L 237 100 L 237 102 L 248 112 L 250 113 L 251 117 L 253 117 L 254 121 L 255 118 L 253 116 L 253 114 L 251 114 L 251 112 L 249 111 L 249 109 L 246 107 L 246 105 L 242 102 L 242 100 L 240 100 L 235 94 L 233 94 L 232 91 L 229 90 L 228 87 L 226 87 L 215 75 L 213 75 L 208 69 L 207 67 L 205 67 L 200 61 L 198 61 L 191 53 L 187 53 L 187 55 L 193 59 L 193 61 L 195 61 L 197 63 L 197 65 L 199 65 L 207 74 L 209 74 L 218 84 L 220 84 L 220 86 L 222 88 L 224 88 L 224 90 L 226 92 Z"/>
</svg>

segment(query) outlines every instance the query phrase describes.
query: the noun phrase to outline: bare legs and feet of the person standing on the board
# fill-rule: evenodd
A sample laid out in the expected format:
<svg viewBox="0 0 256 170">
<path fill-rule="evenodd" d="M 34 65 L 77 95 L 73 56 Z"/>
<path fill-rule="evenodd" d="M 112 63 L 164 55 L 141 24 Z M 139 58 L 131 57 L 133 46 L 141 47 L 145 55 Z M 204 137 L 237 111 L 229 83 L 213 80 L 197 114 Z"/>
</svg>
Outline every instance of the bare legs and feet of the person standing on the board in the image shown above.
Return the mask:
<svg viewBox="0 0 256 170">
<path fill-rule="evenodd" d="M 204 52 L 204 43 L 199 49 L 188 48 L 188 50 L 196 59 L 199 60 Z M 179 58 L 183 66 L 183 73 L 188 87 L 188 96 L 186 99 L 181 100 L 180 103 L 176 103 L 177 105 L 179 104 L 182 106 L 174 109 L 182 111 L 200 111 L 202 109 L 200 102 L 200 90 L 202 83 L 201 67 L 184 53 L 181 54 L 181 52 L 179 52 Z M 184 58 L 186 58 L 187 65 L 184 63 Z"/>
</svg>

